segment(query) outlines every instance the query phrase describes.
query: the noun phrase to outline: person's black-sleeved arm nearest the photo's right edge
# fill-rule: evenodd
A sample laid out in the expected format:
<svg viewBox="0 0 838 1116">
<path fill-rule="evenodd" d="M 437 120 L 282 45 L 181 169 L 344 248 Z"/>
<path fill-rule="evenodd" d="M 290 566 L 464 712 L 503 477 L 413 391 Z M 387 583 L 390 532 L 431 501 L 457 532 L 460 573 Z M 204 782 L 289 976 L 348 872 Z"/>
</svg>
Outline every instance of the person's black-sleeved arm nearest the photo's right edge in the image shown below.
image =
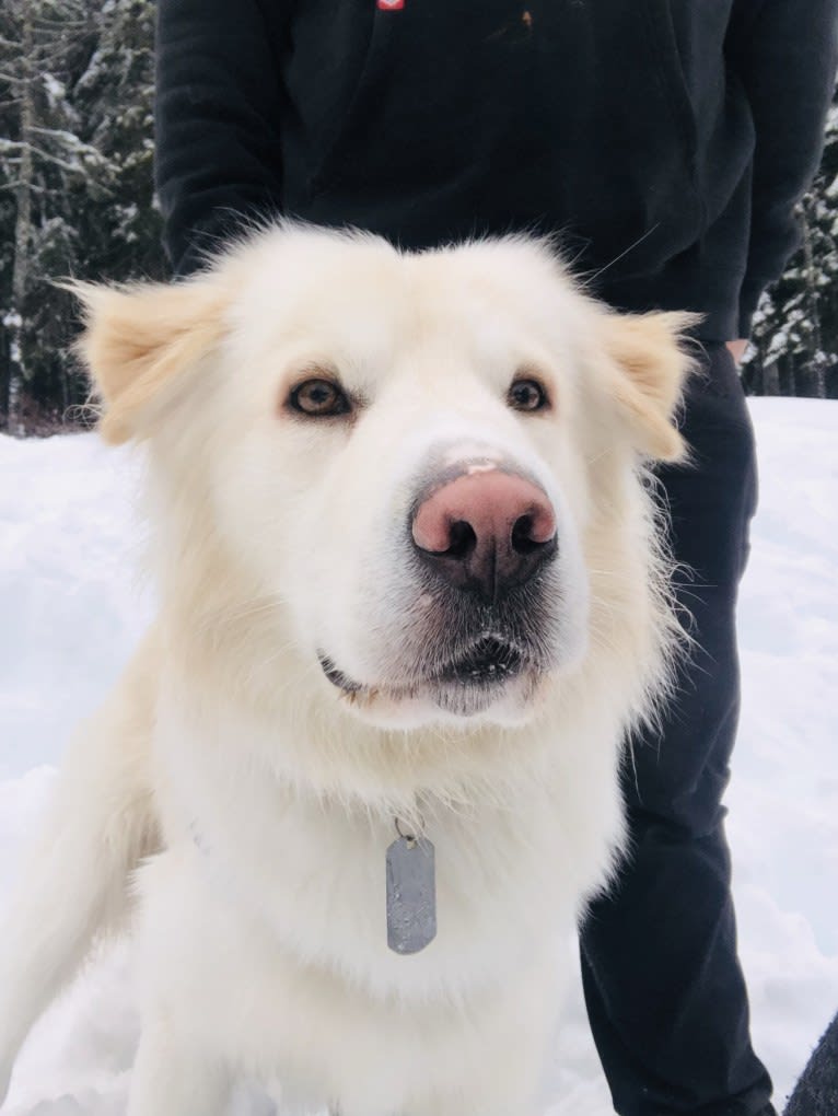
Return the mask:
<svg viewBox="0 0 838 1116">
<path fill-rule="evenodd" d="M 740 337 L 765 287 L 799 242 L 794 205 L 809 186 L 823 145 L 835 86 L 838 0 L 739 0 L 729 62 L 753 113 L 757 150 L 748 272 Z"/>
</svg>

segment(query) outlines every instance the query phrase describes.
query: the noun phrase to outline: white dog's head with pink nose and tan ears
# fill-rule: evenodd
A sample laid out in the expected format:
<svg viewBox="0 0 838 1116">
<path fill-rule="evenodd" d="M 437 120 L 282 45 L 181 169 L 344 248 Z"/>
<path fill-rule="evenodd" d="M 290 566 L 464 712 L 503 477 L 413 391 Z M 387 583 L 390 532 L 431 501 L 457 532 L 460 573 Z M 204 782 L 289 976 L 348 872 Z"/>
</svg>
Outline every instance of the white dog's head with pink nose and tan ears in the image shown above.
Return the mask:
<svg viewBox="0 0 838 1116">
<path fill-rule="evenodd" d="M 183 283 L 78 290 L 185 624 L 235 617 L 301 685 L 416 725 L 519 722 L 619 608 L 658 623 L 637 466 L 683 452 L 684 316 L 615 315 L 520 238 L 299 228 Z"/>
</svg>

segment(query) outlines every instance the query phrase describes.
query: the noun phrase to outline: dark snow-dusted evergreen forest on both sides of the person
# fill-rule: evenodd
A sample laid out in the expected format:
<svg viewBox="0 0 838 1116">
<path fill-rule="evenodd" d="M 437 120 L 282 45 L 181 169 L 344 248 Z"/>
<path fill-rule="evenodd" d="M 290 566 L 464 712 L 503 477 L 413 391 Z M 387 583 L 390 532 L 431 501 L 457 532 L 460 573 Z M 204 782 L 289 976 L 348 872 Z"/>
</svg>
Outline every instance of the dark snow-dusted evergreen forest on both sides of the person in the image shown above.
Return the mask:
<svg viewBox="0 0 838 1116">
<path fill-rule="evenodd" d="M 84 423 L 60 276 L 167 275 L 152 186 L 154 0 L 2 0 L 0 431 Z M 802 244 L 764 296 L 749 393 L 838 398 L 838 96 Z"/>
</svg>

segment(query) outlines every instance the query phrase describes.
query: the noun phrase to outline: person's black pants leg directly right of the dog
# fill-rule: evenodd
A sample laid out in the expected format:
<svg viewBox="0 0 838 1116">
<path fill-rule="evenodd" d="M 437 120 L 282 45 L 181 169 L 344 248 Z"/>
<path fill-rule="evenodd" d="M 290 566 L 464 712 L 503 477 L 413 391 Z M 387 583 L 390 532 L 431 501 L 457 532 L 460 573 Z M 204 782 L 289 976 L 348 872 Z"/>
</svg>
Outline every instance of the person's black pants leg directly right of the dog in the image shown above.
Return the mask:
<svg viewBox="0 0 838 1116">
<path fill-rule="evenodd" d="M 735 604 L 757 494 L 733 360 L 705 345 L 682 430 L 692 466 L 659 472 L 696 648 L 661 737 L 626 764 L 630 852 L 581 935 L 594 1038 L 622 1116 L 754 1116 L 771 1081 L 753 1054 L 736 958 L 721 798 L 739 714 Z"/>
</svg>

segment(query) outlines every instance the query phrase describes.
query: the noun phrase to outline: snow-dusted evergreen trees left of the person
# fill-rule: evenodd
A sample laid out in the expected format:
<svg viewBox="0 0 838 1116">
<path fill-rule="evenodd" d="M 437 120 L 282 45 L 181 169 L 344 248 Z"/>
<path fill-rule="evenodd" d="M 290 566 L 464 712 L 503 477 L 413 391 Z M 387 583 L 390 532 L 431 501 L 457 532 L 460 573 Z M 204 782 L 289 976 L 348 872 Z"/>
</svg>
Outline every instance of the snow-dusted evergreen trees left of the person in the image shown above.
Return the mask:
<svg viewBox="0 0 838 1116">
<path fill-rule="evenodd" d="M 48 280 L 162 273 L 152 191 L 152 0 L 0 9 L 0 414 L 61 415 L 86 387 L 71 300 Z M 3 375 L 4 371 L 4 375 Z"/>
</svg>

